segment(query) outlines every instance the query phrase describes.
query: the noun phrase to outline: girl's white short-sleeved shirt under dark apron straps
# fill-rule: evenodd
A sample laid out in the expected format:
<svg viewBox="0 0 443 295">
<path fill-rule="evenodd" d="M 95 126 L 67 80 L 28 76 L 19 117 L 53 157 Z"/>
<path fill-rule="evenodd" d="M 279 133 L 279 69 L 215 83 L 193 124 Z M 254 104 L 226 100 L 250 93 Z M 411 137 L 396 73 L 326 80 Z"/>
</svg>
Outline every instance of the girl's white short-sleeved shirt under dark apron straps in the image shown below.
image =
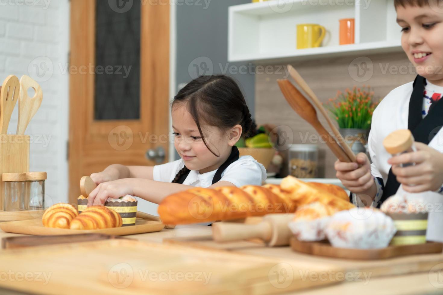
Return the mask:
<svg viewBox="0 0 443 295">
<path fill-rule="evenodd" d="M 184 165 L 183 159 L 155 165 L 154 180 L 171 182 Z M 183 184 L 200 188 L 210 187 L 215 172 L 217 172 L 217 169 L 206 173 L 198 173 L 198 170 L 191 170 Z M 237 187 L 246 184 L 261 185 L 266 180 L 266 169 L 252 156 L 241 156 L 221 173 L 220 181 L 222 180 L 229 181 Z"/>
</svg>

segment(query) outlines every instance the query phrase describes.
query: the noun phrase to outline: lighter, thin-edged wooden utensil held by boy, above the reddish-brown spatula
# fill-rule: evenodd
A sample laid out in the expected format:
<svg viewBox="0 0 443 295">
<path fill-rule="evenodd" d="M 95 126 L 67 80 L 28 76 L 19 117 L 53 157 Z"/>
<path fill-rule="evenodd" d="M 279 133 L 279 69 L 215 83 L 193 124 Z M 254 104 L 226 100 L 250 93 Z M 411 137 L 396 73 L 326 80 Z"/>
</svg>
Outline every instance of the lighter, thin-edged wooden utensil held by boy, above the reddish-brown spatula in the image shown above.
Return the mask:
<svg viewBox="0 0 443 295">
<path fill-rule="evenodd" d="M 319 108 L 320 112 L 322 113 L 323 117 L 325 117 L 328 125 L 330 126 L 332 132 L 334 133 L 335 137 L 337 138 L 338 143 L 342 148 L 345 150 L 345 153 L 348 155 L 351 161 L 355 162 L 355 154 L 350 148 L 350 146 L 345 142 L 345 139 L 343 138 L 342 134 L 338 132 L 337 128 L 335 127 L 334 123 L 332 123 L 332 120 L 328 113 L 326 112 L 325 108 L 323 107 L 322 103 L 318 99 L 318 97 L 315 95 L 314 91 L 309 87 L 309 85 L 305 82 L 305 80 L 300 76 L 300 74 L 292 67 L 292 65 L 288 65 L 289 74 L 291 77 L 299 84 L 300 88 L 303 89 L 304 92 L 311 98 L 311 100 L 314 102 L 315 106 Z"/>
</svg>

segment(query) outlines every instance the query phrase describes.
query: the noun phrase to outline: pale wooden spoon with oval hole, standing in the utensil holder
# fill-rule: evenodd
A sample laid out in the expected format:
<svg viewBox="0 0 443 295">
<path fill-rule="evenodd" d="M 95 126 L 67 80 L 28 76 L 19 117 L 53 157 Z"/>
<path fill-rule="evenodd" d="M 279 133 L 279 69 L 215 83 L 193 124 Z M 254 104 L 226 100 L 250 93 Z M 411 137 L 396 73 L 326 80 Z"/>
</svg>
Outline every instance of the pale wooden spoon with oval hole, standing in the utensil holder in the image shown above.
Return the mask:
<svg viewBox="0 0 443 295">
<path fill-rule="evenodd" d="M 26 127 L 42 104 L 43 91 L 37 82 L 26 75 L 21 77 L 20 85 L 19 123 L 17 124 L 17 134 L 25 134 Z M 30 87 L 35 90 L 34 97 L 29 97 L 27 94 Z"/>
</svg>

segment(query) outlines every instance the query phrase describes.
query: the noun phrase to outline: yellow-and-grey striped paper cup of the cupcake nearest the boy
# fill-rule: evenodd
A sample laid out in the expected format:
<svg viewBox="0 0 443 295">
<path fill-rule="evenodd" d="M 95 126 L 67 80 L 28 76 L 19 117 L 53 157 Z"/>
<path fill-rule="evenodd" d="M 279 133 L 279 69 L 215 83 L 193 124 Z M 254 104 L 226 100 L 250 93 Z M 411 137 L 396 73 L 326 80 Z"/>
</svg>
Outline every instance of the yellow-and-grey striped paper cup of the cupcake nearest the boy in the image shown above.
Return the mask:
<svg viewBox="0 0 443 295">
<path fill-rule="evenodd" d="M 387 213 L 394 220 L 397 233 L 391 245 L 413 245 L 426 243 L 427 212 L 424 213 Z"/>
</svg>

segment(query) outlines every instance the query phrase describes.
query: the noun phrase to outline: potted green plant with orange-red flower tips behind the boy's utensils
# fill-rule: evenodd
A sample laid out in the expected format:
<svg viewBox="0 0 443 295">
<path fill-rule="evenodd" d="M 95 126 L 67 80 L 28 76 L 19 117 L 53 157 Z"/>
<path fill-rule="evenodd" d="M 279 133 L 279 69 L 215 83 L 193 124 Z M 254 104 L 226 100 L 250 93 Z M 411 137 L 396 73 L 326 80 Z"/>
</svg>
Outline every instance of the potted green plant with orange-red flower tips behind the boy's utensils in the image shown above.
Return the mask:
<svg viewBox="0 0 443 295">
<path fill-rule="evenodd" d="M 366 153 L 372 114 L 380 102 L 373 102 L 374 92 L 370 91 L 369 85 L 362 88 L 365 90 L 354 86 L 352 90 L 346 88 L 345 92 L 338 91 L 325 105 L 355 154 Z"/>
</svg>

